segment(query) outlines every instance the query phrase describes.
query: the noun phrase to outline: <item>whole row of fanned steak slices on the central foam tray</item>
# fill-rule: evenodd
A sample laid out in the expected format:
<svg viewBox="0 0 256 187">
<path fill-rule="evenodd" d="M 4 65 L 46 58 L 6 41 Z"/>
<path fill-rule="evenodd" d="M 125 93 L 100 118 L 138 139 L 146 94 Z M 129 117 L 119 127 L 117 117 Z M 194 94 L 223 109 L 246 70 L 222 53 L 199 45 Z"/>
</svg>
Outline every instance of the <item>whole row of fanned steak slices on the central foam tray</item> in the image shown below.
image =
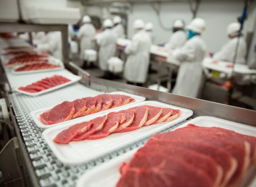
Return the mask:
<svg viewBox="0 0 256 187">
<path fill-rule="evenodd" d="M 140 129 L 142 126 L 172 121 L 179 115 L 180 110 L 171 108 L 149 105 L 132 107 L 72 125 L 58 133 L 54 142 L 67 144 L 70 141 L 100 139 L 111 133 L 125 133 Z"/>
</svg>

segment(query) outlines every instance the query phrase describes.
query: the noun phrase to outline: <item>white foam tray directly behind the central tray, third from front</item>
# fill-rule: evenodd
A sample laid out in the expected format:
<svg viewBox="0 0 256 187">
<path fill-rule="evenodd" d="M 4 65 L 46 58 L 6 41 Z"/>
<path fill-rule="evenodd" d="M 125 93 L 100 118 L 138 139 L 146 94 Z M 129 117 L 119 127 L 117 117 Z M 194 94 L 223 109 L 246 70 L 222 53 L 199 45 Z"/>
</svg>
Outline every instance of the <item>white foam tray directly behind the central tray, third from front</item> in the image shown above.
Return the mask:
<svg viewBox="0 0 256 187">
<path fill-rule="evenodd" d="M 111 93 L 108 93 L 108 94 L 120 94 L 120 95 L 127 95 L 127 96 L 130 96 L 132 98 L 135 99 L 135 102 L 133 103 L 128 103 L 127 105 L 123 105 L 123 106 L 119 106 L 119 107 L 116 107 L 116 108 L 113 108 L 113 109 L 108 109 L 106 111 L 113 111 L 113 110 L 116 110 L 118 108 L 122 108 L 122 107 L 125 107 L 125 106 L 130 106 L 130 105 L 133 105 L 134 103 L 139 103 L 139 102 L 142 102 L 142 101 L 145 101 L 145 97 L 142 97 L 142 96 L 139 96 L 139 95 L 134 95 L 134 94 L 128 94 L 126 92 L 111 92 Z M 96 96 L 96 95 L 95 95 Z M 54 106 L 53 106 L 54 107 Z M 64 121 L 64 122 L 61 122 L 61 123 L 56 123 L 56 124 L 53 124 L 53 125 L 46 125 L 44 124 L 41 120 L 40 120 L 40 117 L 39 115 L 44 113 L 45 111 L 48 111 L 52 109 L 52 107 L 48 107 L 48 108 L 44 108 L 44 109 L 39 109 L 39 110 L 35 110 L 35 111 L 31 111 L 30 114 L 32 116 L 32 119 L 35 121 L 36 125 L 40 128 L 50 128 L 50 127 L 54 127 L 54 126 L 59 126 L 59 125 L 64 125 L 64 124 L 69 124 L 69 123 L 78 123 L 78 121 L 81 121 L 81 120 L 84 120 L 85 118 L 89 117 L 89 116 L 94 116 L 94 115 L 99 115 L 101 113 L 106 113 L 106 111 L 101 111 L 101 112 L 97 112 L 97 113 L 94 113 L 94 114 L 90 114 L 90 115 L 86 115 L 84 117 L 79 117 L 79 118 L 76 118 L 76 119 L 71 119 L 71 120 L 68 120 L 68 121 Z"/>
</svg>

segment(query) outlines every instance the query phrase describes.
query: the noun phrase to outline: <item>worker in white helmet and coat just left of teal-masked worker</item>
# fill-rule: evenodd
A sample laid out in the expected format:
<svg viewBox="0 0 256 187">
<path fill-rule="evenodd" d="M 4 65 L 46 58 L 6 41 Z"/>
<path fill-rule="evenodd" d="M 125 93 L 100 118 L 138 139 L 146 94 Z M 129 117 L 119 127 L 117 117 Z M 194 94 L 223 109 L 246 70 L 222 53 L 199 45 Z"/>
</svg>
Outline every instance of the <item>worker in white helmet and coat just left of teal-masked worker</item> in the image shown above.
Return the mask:
<svg viewBox="0 0 256 187">
<path fill-rule="evenodd" d="M 181 48 L 188 39 L 188 35 L 186 34 L 184 27 L 185 23 L 183 20 L 175 20 L 172 24 L 172 36 L 164 47 L 169 49 Z"/>
</svg>

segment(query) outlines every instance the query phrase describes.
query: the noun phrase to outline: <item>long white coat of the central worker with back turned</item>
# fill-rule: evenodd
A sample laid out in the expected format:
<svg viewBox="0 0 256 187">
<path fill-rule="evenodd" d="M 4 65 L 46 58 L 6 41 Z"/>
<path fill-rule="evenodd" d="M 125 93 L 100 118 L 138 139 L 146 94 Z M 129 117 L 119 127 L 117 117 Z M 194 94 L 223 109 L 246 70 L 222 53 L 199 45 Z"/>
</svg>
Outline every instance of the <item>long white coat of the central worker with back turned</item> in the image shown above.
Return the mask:
<svg viewBox="0 0 256 187">
<path fill-rule="evenodd" d="M 151 39 L 145 30 L 140 30 L 132 37 L 132 42 L 124 52 L 128 54 L 124 67 L 124 78 L 129 82 L 145 83 L 150 63 Z"/>
</svg>

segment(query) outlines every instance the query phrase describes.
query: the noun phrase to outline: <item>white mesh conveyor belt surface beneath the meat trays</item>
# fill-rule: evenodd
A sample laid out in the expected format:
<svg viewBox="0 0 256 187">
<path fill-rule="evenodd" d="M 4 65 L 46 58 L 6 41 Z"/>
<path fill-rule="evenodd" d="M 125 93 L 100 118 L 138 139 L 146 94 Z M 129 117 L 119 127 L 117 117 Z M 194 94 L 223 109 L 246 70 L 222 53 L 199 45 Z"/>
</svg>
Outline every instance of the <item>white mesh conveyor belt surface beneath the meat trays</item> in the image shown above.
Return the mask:
<svg viewBox="0 0 256 187">
<path fill-rule="evenodd" d="M 42 137 L 44 129 L 36 126 L 30 116 L 30 111 L 51 107 L 64 100 L 72 101 L 77 98 L 95 96 L 101 93 L 102 92 L 92 90 L 77 83 L 38 97 L 30 97 L 18 93 L 9 95 L 29 157 L 41 186 L 75 186 L 76 179 L 78 179 L 84 172 L 122 155 L 135 147 L 143 145 L 148 139 L 146 138 L 128 147 L 124 147 L 123 149 L 102 158 L 96 158 L 89 163 L 84 163 L 78 166 L 64 165 L 61 163 L 44 141 Z M 166 131 L 170 131 L 175 127 L 177 127 L 177 125 Z"/>
</svg>

